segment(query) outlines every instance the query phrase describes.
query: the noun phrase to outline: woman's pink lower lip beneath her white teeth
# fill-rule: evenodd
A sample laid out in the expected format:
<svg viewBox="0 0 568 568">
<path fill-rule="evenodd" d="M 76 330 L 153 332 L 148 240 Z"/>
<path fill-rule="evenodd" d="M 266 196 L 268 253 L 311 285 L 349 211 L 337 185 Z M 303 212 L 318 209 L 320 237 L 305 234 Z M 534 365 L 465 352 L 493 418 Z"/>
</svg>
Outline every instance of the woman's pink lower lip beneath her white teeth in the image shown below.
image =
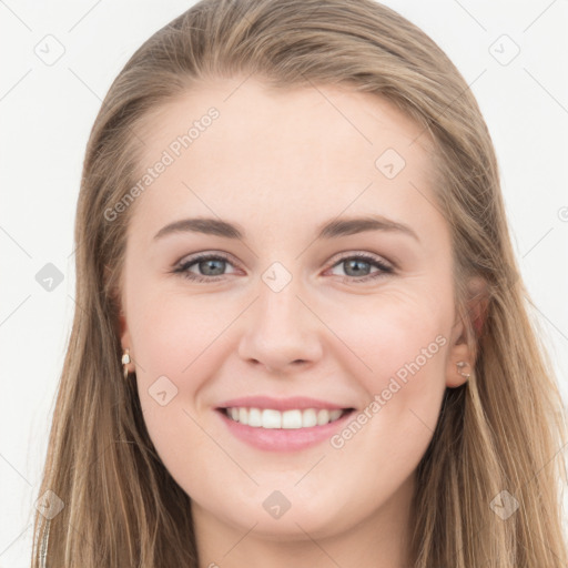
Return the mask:
<svg viewBox="0 0 568 568">
<path fill-rule="evenodd" d="M 257 449 L 268 452 L 296 452 L 316 446 L 331 438 L 353 415 L 354 410 L 345 413 L 341 418 L 323 426 L 310 428 L 261 428 L 247 426 L 232 420 L 222 410 L 216 410 L 226 424 L 231 434 Z"/>
</svg>

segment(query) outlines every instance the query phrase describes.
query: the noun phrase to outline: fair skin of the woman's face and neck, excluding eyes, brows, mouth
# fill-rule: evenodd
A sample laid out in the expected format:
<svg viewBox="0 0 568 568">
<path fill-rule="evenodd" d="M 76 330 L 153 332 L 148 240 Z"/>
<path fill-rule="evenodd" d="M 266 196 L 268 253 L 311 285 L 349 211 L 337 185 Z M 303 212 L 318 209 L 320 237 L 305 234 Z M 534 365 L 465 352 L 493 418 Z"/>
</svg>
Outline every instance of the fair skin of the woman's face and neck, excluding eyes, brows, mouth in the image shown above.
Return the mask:
<svg viewBox="0 0 568 568">
<path fill-rule="evenodd" d="M 466 381 L 456 363 L 474 363 L 454 311 L 449 227 L 433 206 L 428 139 L 410 144 L 420 128 L 368 93 L 242 81 L 203 83 L 155 110 L 141 132 L 143 171 L 207 109 L 220 111 L 130 212 L 121 341 L 144 420 L 192 498 L 200 567 L 371 567 L 379 559 L 400 568 L 416 467 L 446 387 Z M 390 180 L 375 166 L 387 148 L 406 161 Z M 314 240 L 325 221 L 369 213 L 409 225 L 419 242 L 379 231 Z M 190 216 L 237 223 L 246 236 L 153 241 Z M 221 276 L 192 265 L 211 283 L 171 272 L 199 252 L 234 261 L 221 263 Z M 341 261 L 359 252 L 394 273 L 357 283 Z M 292 276 L 277 293 L 262 280 L 276 261 Z M 214 410 L 256 394 L 363 410 L 436 336 L 445 345 L 342 448 L 326 440 L 296 453 L 255 449 Z M 149 394 L 163 375 L 178 388 L 165 406 Z M 278 519 L 263 508 L 274 490 L 291 501 Z"/>
</svg>

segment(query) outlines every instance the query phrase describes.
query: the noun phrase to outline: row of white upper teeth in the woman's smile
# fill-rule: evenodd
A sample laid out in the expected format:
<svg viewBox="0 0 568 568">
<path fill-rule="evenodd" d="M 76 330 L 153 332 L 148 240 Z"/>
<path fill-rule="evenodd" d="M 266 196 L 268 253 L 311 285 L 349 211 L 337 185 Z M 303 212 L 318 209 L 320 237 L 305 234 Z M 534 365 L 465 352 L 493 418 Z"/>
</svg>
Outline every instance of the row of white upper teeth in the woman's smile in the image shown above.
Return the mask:
<svg viewBox="0 0 568 568">
<path fill-rule="evenodd" d="M 294 409 L 273 410 L 271 408 L 227 408 L 226 414 L 230 418 L 241 424 L 254 428 L 311 428 L 312 426 L 323 426 L 329 422 L 335 422 L 343 414 L 343 410 L 327 410 L 325 408 L 307 408 L 305 410 Z"/>
</svg>

